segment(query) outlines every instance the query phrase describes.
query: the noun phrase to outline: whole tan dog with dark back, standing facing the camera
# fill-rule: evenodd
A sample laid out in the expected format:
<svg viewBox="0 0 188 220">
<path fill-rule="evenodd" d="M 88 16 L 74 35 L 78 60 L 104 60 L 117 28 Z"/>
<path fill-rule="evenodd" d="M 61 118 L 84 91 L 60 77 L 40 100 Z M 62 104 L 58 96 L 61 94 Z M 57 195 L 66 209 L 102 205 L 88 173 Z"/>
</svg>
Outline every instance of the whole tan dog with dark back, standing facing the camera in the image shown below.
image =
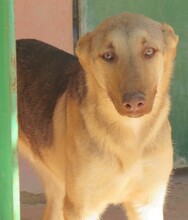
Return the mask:
<svg viewBox="0 0 188 220">
<path fill-rule="evenodd" d="M 18 41 L 19 147 L 44 182 L 44 220 L 97 219 L 112 203 L 130 220 L 163 219 L 177 42 L 167 24 L 129 13 L 79 40 L 80 63 Z"/>
</svg>

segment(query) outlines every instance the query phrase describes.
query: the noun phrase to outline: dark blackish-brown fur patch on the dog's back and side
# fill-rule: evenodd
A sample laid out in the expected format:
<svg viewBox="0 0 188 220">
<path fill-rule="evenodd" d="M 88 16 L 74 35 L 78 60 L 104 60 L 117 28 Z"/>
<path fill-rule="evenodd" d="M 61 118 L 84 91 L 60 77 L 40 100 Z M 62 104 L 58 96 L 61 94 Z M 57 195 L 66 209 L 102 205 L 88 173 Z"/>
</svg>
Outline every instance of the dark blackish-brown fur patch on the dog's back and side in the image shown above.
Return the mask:
<svg viewBox="0 0 188 220">
<path fill-rule="evenodd" d="M 49 44 L 25 39 L 16 46 L 19 127 L 33 144 L 47 145 L 57 100 L 67 89 L 80 91 L 84 73 L 75 56 Z"/>
</svg>

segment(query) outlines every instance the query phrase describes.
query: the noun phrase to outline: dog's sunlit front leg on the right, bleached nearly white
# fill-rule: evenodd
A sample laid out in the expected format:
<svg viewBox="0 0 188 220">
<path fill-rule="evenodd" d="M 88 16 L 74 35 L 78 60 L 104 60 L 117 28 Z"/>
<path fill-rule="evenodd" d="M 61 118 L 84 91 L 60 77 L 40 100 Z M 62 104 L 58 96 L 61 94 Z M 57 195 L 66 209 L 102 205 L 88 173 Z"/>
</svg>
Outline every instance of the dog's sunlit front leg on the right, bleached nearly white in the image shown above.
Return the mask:
<svg viewBox="0 0 188 220">
<path fill-rule="evenodd" d="M 146 189 L 147 190 L 147 189 Z M 125 205 L 129 220 L 163 220 L 163 205 L 166 185 L 159 190 L 144 196 L 145 199 L 137 199 Z M 140 196 L 139 196 L 140 197 Z"/>
</svg>

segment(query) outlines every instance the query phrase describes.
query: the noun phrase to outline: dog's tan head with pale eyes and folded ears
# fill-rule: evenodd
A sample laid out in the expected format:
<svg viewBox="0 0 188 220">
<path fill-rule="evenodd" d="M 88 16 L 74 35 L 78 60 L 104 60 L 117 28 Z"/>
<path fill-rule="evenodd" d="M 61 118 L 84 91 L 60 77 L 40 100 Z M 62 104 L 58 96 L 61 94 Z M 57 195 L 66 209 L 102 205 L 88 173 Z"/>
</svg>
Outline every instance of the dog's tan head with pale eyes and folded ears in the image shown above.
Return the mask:
<svg viewBox="0 0 188 220">
<path fill-rule="evenodd" d="M 168 92 L 177 43 L 169 25 L 123 13 L 80 38 L 76 54 L 121 115 L 140 117 Z"/>
</svg>

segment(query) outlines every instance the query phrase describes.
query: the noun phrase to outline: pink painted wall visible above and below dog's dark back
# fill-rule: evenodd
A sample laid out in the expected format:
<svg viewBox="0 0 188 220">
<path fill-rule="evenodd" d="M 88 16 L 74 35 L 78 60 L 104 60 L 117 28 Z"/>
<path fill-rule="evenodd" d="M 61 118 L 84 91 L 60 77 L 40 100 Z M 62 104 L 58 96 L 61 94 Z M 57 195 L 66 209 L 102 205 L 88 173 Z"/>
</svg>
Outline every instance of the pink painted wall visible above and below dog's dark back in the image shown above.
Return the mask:
<svg viewBox="0 0 188 220">
<path fill-rule="evenodd" d="M 15 0 L 16 39 L 34 38 L 73 53 L 72 0 Z M 35 170 L 20 156 L 21 191 L 43 189 Z"/>
</svg>

